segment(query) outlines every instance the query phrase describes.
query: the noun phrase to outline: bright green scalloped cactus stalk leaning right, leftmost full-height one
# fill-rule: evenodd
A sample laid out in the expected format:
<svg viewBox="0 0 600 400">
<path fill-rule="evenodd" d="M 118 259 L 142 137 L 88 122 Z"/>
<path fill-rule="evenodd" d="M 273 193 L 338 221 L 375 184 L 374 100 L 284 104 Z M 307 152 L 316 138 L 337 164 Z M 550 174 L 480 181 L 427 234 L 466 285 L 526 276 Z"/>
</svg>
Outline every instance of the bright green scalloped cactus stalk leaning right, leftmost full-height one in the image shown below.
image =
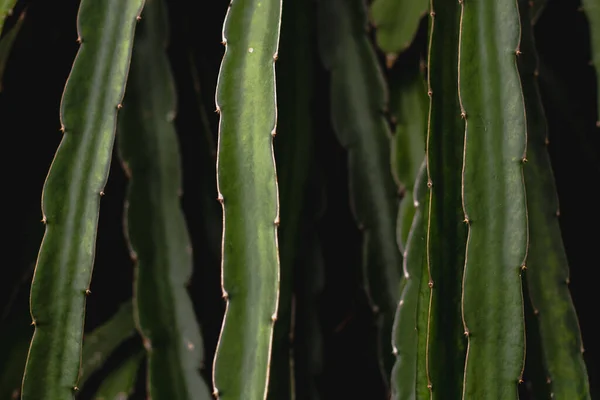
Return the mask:
<svg viewBox="0 0 600 400">
<path fill-rule="evenodd" d="M 79 8 L 81 47 L 61 102 L 64 136 L 42 194 L 46 232 L 31 286 L 24 400 L 72 399 L 78 389 L 100 197 L 143 3 L 82 0 Z"/>
</svg>

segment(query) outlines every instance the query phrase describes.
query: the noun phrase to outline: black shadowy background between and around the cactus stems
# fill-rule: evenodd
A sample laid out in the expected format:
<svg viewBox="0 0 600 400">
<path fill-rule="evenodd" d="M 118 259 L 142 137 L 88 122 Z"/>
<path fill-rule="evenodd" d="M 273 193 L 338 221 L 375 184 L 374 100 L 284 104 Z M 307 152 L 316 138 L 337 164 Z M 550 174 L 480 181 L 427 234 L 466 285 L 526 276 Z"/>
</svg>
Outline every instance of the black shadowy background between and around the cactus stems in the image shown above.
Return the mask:
<svg viewBox="0 0 600 400">
<path fill-rule="evenodd" d="M 176 124 L 183 154 L 182 202 L 195 258 L 190 293 L 202 324 L 207 360 L 212 360 L 223 311 L 219 281 L 220 232 L 218 226 L 212 231 L 205 227 L 214 226 L 221 211 L 216 202 L 214 154 L 206 146 L 207 130 L 203 129 L 202 118 L 204 113 L 210 126 L 209 135 L 214 137 L 217 131 L 214 89 L 223 54 L 221 25 L 227 2 L 169 0 L 168 4 L 171 19 L 168 53 L 179 93 Z M 4 204 L 0 310 L 6 309 L 12 300 L 12 311 L 3 315 L 1 329 L 9 326 L 22 329 L 29 318 L 26 282 L 43 234 L 41 190 L 61 139 L 60 98 L 78 49 L 77 7 L 76 0 L 20 1 L 15 16 L 6 26 L 9 28 L 16 15 L 27 8 L 24 26 L 6 69 L 4 90 L 0 93 L 3 149 L 0 196 Z M 549 150 L 561 205 L 560 223 L 571 267 L 570 287 L 580 318 L 590 382 L 594 393 L 599 393 L 597 338 L 600 325 L 596 321 L 596 305 L 600 295 L 595 278 L 600 267 L 597 189 L 600 130 L 594 124 L 598 116 L 595 75 L 589 65 L 588 26 L 579 7 L 575 0 L 548 0 L 535 32 L 543 63 L 540 83 L 550 126 Z M 415 46 L 424 44 L 425 28 L 423 24 Z M 282 58 L 283 54 L 282 49 Z M 194 90 L 191 58 L 199 77 L 200 96 Z M 315 310 L 321 320 L 325 348 L 324 372 L 319 382 L 325 398 L 383 398 L 374 359 L 361 350 L 362 343 L 372 335 L 373 321 L 358 278 L 360 233 L 348 206 L 345 152 L 329 125 L 327 74 L 318 62 L 315 70 L 320 93 L 315 97 L 318 123 L 313 134 L 316 159 L 327 192 L 327 207 L 319 224 L 325 259 L 325 290 Z M 277 161 L 285 163 L 285 160 Z M 86 331 L 107 320 L 119 304 L 131 297 L 133 266 L 122 228 L 125 189 L 126 179 L 115 158 L 102 199 Z M 206 203 L 207 193 L 215 199 L 214 203 L 198 207 Z M 18 285 L 21 290 L 15 295 L 13 289 Z M 135 340 L 128 342 L 120 352 L 127 353 L 137 345 Z M 118 358 L 117 354 L 109 364 Z M 95 385 L 97 382 L 91 382 L 90 388 Z M 522 388 L 526 387 L 527 382 Z"/>
</svg>

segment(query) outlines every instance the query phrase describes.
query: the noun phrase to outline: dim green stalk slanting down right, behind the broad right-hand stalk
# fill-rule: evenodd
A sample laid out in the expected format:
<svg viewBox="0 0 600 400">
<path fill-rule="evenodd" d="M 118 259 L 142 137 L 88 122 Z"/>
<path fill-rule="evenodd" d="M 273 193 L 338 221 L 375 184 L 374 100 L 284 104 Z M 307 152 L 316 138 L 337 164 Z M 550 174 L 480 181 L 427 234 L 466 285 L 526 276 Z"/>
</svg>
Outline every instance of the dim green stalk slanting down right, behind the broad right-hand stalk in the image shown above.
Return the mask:
<svg viewBox="0 0 600 400">
<path fill-rule="evenodd" d="M 547 126 L 537 84 L 538 60 L 530 4 L 520 2 L 523 36 L 519 69 L 527 110 L 529 205 L 527 286 L 539 326 L 550 392 L 557 399 L 589 399 L 577 315 L 569 293 L 569 267 L 558 224 L 558 199 L 547 152 Z M 528 330 L 529 332 L 529 330 Z"/>
</svg>

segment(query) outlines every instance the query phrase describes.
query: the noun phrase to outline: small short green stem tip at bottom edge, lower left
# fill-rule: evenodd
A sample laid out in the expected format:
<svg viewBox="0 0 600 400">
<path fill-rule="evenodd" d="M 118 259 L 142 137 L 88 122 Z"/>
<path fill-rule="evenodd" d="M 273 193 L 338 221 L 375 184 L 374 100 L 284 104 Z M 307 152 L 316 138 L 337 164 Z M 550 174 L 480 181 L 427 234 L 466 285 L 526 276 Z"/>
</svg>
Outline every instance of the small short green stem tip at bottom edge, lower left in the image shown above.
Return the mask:
<svg viewBox="0 0 600 400">
<path fill-rule="evenodd" d="M 150 2 L 150 0 L 147 0 Z M 123 361 L 105 379 L 94 394 L 94 400 L 126 400 L 135 387 L 138 370 L 144 359 L 139 351 Z"/>
</svg>

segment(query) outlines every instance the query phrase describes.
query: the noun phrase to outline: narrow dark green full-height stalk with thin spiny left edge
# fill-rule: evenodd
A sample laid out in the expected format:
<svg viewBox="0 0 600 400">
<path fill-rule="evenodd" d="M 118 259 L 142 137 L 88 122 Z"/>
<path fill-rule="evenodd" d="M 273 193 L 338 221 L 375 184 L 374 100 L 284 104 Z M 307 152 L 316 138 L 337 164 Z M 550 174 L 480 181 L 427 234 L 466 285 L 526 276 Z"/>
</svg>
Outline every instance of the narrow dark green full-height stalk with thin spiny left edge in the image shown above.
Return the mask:
<svg viewBox="0 0 600 400">
<path fill-rule="evenodd" d="M 461 197 L 465 128 L 456 79 L 459 22 L 458 2 L 431 1 L 424 218 L 430 291 L 426 366 L 432 398 L 460 397 L 466 346 L 460 309 L 467 236 Z"/>
</svg>

